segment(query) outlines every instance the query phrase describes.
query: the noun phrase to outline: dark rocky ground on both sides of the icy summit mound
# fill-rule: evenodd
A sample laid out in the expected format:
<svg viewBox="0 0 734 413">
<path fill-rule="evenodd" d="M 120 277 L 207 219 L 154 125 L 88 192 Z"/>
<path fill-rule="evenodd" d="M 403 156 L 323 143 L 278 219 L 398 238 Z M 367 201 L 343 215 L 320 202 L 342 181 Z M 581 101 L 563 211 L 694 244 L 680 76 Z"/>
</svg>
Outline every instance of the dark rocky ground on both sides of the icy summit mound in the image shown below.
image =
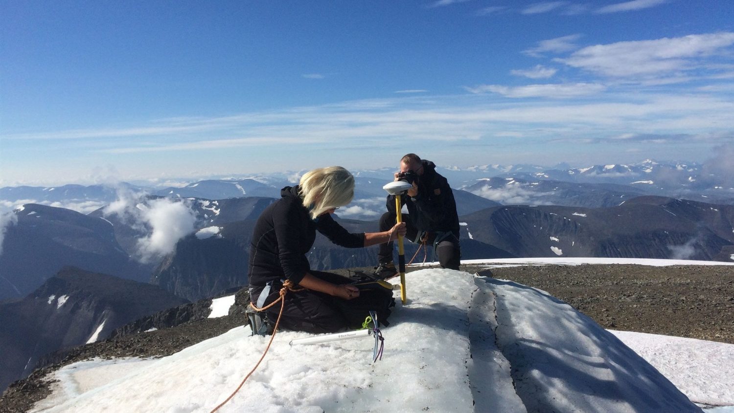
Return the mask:
<svg viewBox="0 0 734 413">
<path fill-rule="evenodd" d="M 474 273 L 483 268 L 462 266 L 462 270 Z M 731 266 L 519 266 L 490 271 L 495 278 L 548 291 L 608 329 L 734 344 Z M 238 294 L 239 310 L 228 317 L 76 348 L 56 364 L 12 384 L 0 398 L 0 412 L 26 412 L 45 398 L 49 383 L 44 377 L 62 365 L 92 357 L 162 357 L 241 326 L 247 322 L 241 312 L 244 299 Z"/>
</svg>

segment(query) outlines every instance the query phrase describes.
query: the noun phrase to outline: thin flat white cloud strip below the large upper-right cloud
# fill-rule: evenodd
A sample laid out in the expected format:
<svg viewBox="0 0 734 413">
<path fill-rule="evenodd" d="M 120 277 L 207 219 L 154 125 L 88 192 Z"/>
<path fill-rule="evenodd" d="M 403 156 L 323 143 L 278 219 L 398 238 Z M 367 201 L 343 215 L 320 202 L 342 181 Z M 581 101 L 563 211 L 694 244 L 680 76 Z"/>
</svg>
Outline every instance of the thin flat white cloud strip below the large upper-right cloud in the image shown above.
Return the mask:
<svg viewBox="0 0 734 413">
<path fill-rule="evenodd" d="M 507 87 L 498 84 L 484 84 L 466 88 L 472 93 L 493 92 L 507 98 L 577 98 L 578 96 L 595 95 L 603 92 L 603 84 L 528 84 L 527 86 Z"/>
</svg>

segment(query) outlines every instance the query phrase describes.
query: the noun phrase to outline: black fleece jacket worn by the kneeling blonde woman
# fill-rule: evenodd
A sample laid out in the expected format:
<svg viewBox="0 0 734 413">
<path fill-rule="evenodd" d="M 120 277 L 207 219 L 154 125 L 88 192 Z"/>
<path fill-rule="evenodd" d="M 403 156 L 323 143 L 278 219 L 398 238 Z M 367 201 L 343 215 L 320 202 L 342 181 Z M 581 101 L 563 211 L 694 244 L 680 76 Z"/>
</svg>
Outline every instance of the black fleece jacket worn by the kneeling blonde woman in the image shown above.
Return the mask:
<svg viewBox="0 0 734 413">
<path fill-rule="evenodd" d="M 364 246 L 364 234 L 349 233 L 324 213 L 316 221 L 298 196 L 298 186 L 286 186 L 280 200 L 273 202 L 258 218 L 250 243 L 250 285 L 280 285 L 290 279 L 294 285 L 310 271 L 306 254 L 316 240 L 316 231 L 334 244 L 347 248 Z"/>
</svg>

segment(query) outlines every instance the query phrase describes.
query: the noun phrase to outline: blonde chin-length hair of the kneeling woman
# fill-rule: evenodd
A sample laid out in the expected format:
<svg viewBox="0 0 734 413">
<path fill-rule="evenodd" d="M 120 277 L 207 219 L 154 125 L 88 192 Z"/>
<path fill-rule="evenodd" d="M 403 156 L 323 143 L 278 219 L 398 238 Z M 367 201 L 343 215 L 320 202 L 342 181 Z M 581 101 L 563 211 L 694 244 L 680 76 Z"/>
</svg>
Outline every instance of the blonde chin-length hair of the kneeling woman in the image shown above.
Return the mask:
<svg viewBox="0 0 734 413">
<path fill-rule="evenodd" d="M 306 172 L 298 184 L 298 194 L 311 219 L 352 202 L 355 177 L 343 167 L 325 167 Z"/>
</svg>

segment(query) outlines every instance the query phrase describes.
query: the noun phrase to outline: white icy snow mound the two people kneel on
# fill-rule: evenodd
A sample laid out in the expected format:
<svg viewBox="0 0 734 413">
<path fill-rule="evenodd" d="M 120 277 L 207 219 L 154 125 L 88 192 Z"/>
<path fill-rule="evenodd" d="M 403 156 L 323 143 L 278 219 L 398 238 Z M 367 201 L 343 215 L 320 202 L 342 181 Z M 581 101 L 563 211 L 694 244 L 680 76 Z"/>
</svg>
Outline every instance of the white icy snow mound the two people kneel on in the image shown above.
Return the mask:
<svg viewBox="0 0 734 413">
<path fill-rule="evenodd" d="M 383 329 L 381 361 L 371 362 L 371 337 L 289 346 L 308 334 L 278 332 L 219 412 L 700 412 L 548 293 L 440 269 L 409 273 L 407 293 Z M 239 327 L 162 359 L 70 365 L 34 411 L 209 412 L 268 340 Z"/>
</svg>

